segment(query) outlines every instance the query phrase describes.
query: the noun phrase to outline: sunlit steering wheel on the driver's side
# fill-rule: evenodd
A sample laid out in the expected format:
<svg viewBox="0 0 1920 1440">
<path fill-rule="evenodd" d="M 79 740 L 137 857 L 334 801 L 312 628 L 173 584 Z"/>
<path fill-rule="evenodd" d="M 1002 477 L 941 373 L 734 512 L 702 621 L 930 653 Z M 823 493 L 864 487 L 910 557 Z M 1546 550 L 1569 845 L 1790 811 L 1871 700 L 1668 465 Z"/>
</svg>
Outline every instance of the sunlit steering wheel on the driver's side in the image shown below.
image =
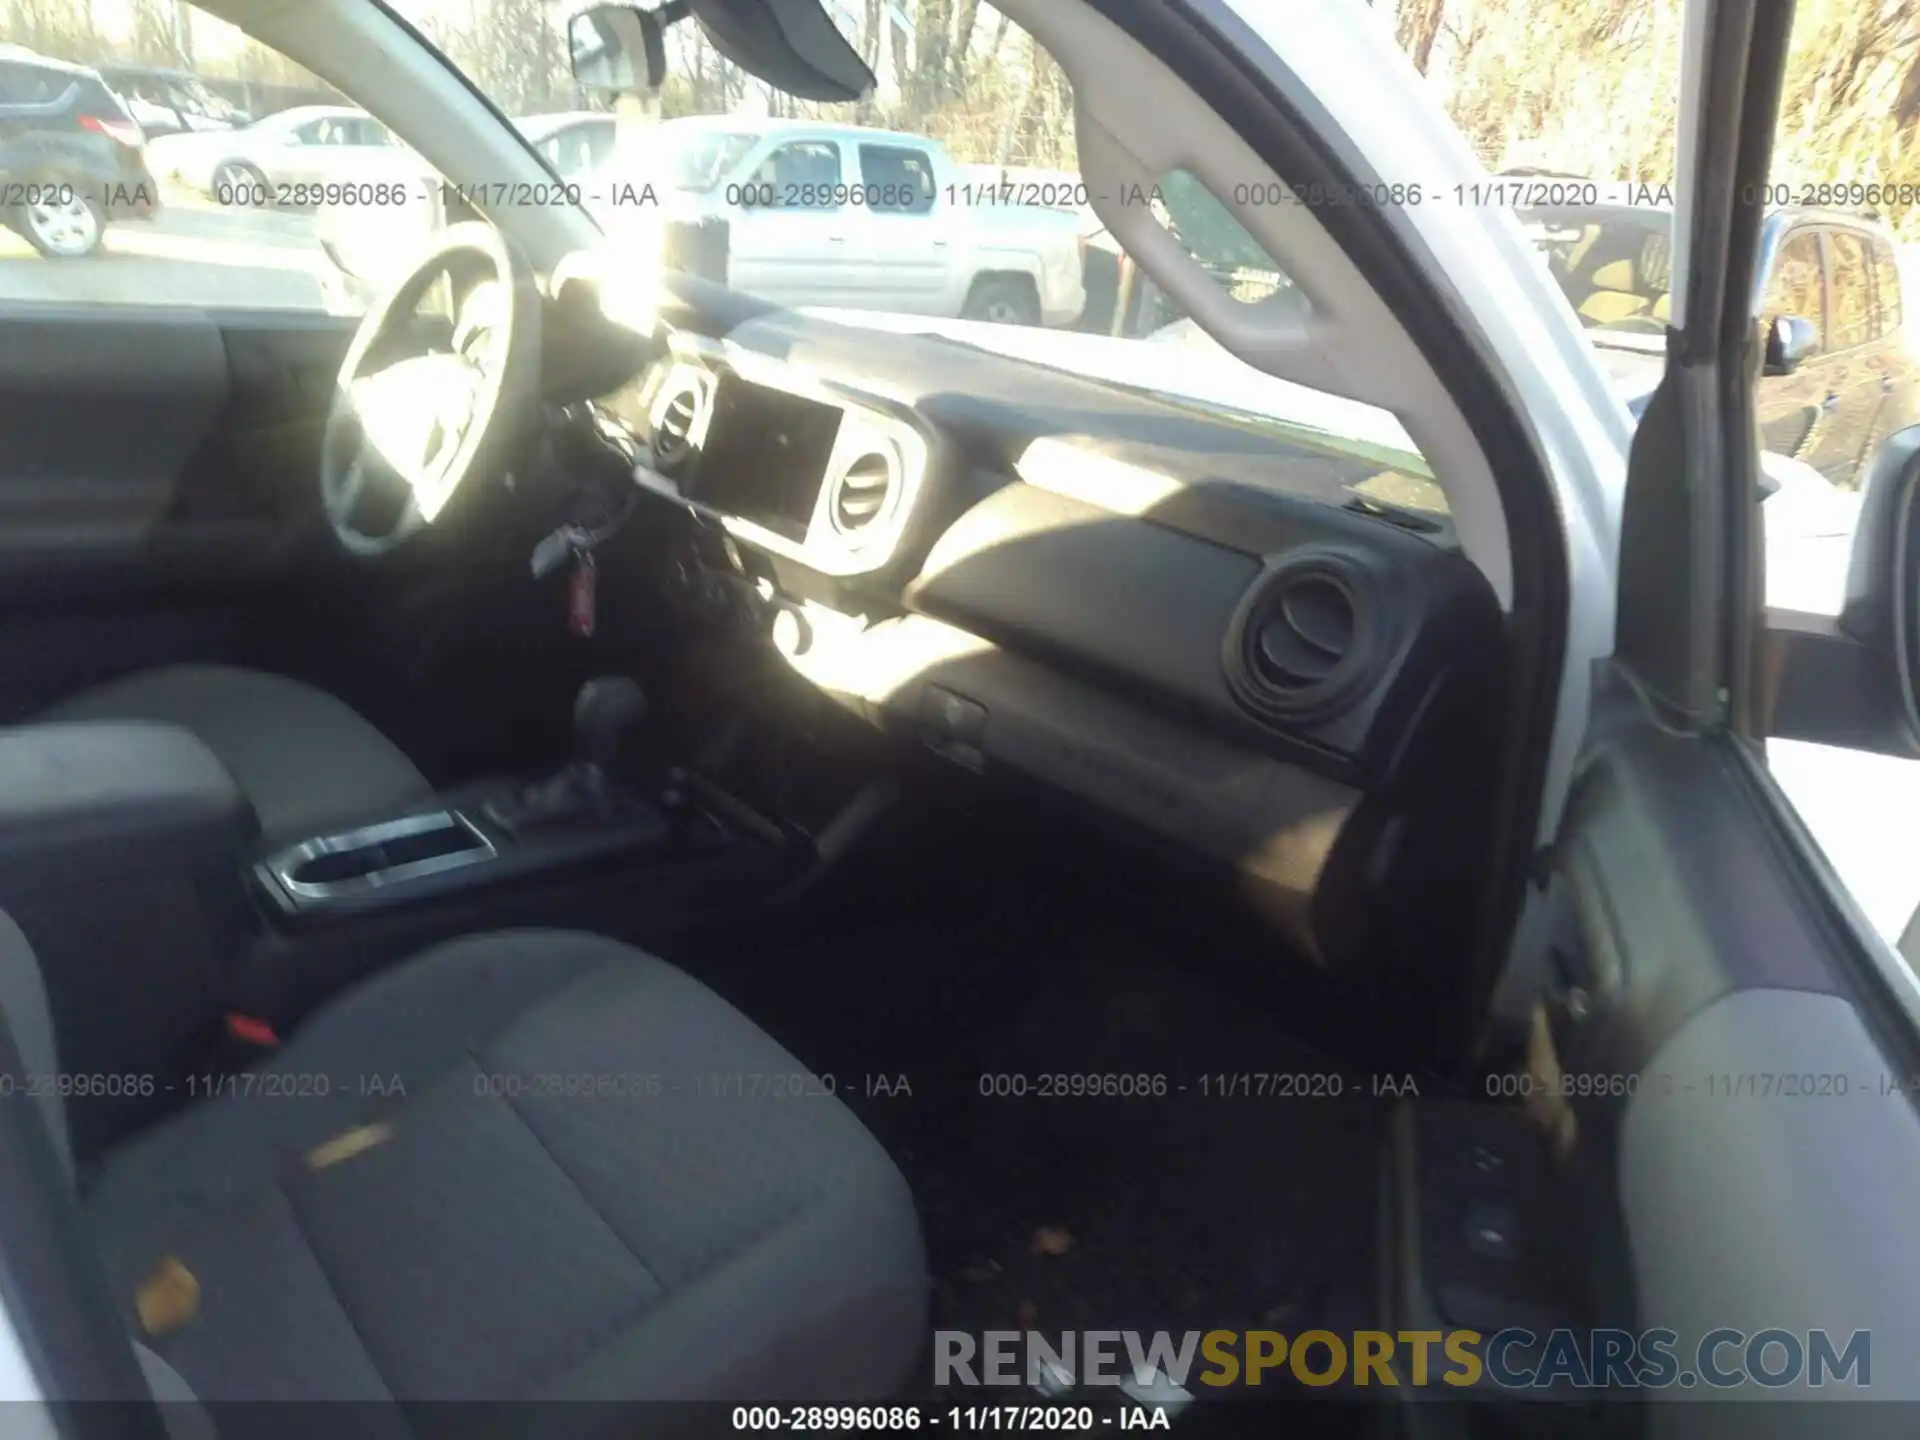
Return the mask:
<svg viewBox="0 0 1920 1440">
<path fill-rule="evenodd" d="M 447 349 L 407 336 L 442 276 L 470 280 Z M 353 555 L 386 555 L 420 534 L 476 470 L 505 467 L 540 420 L 540 288 L 520 250 L 465 221 L 361 319 L 321 436 L 321 507 Z M 363 530 L 374 501 L 397 518 Z"/>
</svg>

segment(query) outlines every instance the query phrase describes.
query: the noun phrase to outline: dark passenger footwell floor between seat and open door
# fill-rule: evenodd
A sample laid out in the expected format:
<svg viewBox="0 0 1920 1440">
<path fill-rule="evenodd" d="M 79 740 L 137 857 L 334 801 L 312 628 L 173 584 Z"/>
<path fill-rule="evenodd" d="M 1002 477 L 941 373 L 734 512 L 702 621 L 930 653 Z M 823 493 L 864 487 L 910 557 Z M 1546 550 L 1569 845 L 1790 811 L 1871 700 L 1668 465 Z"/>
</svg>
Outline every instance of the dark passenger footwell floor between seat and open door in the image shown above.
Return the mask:
<svg viewBox="0 0 1920 1440">
<path fill-rule="evenodd" d="M 1298 1331 L 1367 1284 L 1388 1100 L 1177 939 L 1004 893 L 835 929 L 712 983 L 906 1173 L 935 1329 Z"/>
</svg>

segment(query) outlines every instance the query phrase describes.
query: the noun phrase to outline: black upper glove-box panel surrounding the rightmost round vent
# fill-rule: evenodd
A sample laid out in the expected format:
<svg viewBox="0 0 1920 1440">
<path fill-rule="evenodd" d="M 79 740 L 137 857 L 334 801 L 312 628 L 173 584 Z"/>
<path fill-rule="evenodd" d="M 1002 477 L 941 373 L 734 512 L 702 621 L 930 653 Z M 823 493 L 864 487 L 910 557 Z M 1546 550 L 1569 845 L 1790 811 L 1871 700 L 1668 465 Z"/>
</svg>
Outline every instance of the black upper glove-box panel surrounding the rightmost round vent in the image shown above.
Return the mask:
<svg viewBox="0 0 1920 1440">
<path fill-rule="evenodd" d="M 1284 499 L 1284 497 L 1281 497 Z M 1465 557 L 1313 501 L 1296 501 L 1277 557 L 1014 482 L 960 516 L 906 605 L 1008 649 L 1146 699 L 1240 745 L 1363 789 L 1392 780 L 1405 728 L 1461 647 L 1498 643 L 1498 603 Z M 1279 716 L 1236 693 L 1225 662 L 1275 561 L 1336 547 L 1365 576 L 1371 684 L 1338 708 Z"/>
</svg>

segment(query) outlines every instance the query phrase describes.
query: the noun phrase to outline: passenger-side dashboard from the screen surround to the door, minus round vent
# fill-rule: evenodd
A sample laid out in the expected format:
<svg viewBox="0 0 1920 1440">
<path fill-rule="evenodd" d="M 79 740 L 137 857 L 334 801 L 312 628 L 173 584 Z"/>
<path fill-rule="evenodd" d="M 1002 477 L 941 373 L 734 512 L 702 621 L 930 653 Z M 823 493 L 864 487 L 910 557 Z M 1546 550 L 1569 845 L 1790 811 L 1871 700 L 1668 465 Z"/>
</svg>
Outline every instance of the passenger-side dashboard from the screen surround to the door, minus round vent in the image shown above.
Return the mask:
<svg viewBox="0 0 1920 1440">
<path fill-rule="evenodd" d="M 739 369 L 927 445 L 885 563 L 839 574 L 703 507 L 697 484 L 682 493 L 636 472 L 739 541 L 733 620 L 816 689 L 918 733 L 929 687 L 947 687 L 985 716 L 966 737 L 922 735 L 929 749 L 1223 864 L 1240 900 L 1323 964 L 1377 958 L 1388 889 L 1409 887 L 1428 931 L 1461 933 L 1448 920 L 1471 893 L 1461 837 L 1478 833 L 1492 774 L 1475 749 L 1492 728 L 1475 716 L 1498 701 L 1505 630 L 1446 528 L 1350 507 L 1377 461 L 968 346 L 795 315 L 676 336 L 672 351 L 660 365 Z M 1229 655 L 1261 578 L 1317 551 L 1348 557 L 1365 589 L 1367 684 L 1338 707 L 1277 714 L 1235 693 Z M 781 611 L 804 637 L 791 649 L 774 634 Z M 870 689 L 876 668 L 893 693 Z M 1461 762 L 1436 772 L 1428 732 Z"/>
</svg>

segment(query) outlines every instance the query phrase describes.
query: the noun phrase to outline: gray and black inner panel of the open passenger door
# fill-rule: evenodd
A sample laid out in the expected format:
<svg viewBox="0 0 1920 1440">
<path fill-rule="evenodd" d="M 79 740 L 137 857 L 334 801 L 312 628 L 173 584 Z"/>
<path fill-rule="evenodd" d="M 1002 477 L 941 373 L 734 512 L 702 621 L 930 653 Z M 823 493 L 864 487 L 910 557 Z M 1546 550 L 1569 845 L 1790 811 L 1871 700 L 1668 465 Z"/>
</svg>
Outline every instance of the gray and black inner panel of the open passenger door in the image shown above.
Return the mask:
<svg viewBox="0 0 1920 1440">
<path fill-rule="evenodd" d="M 1686 1369 L 1722 1327 L 1824 1329 L 1836 1352 L 1870 1331 L 1876 1398 L 1914 1400 L 1920 1060 L 1870 1020 L 1910 1008 L 1912 977 L 1834 943 L 1786 808 L 1736 745 L 1628 722 L 1590 751 L 1555 860 L 1578 937 L 1559 956 L 1557 1058 L 1569 1077 L 1632 1079 L 1582 1131 L 1613 1137 L 1640 1323 L 1678 1331 Z M 1697 1434 L 1707 1413 L 1649 1419 Z"/>
</svg>

